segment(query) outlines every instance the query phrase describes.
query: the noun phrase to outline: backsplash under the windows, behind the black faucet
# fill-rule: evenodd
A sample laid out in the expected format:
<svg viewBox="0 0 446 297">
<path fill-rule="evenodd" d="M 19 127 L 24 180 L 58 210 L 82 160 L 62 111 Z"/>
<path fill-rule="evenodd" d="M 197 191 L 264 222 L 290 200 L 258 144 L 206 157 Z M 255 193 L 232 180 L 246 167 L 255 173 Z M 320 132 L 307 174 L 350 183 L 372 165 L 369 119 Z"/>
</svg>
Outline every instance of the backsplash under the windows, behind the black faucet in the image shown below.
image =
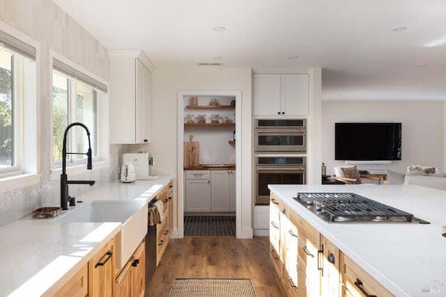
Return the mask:
<svg viewBox="0 0 446 297">
<path fill-rule="evenodd" d="M 109 182 L 109 168 L 91 170 L 81 175 L 70 175 L 69 179 L 93 179 L 94 186 L 70 185 L 70 195 L 76 197 L 93 187 Z M 59 207 L 61 204 L 60 179 L 43 182 L 25 188 L 0 193 L 0 226 L 12 223 L 39 207 Z"/>
</svg>

